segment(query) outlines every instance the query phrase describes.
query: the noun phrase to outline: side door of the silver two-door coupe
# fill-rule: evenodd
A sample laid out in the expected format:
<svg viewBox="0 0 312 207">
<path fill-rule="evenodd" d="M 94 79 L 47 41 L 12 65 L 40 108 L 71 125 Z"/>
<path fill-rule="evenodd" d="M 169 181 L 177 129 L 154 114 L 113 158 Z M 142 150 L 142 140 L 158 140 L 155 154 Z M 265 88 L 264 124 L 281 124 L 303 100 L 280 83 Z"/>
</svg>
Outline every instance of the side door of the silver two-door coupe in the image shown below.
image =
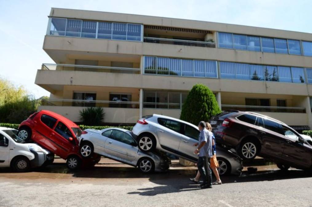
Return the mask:
<svg viewBox="0 0 312 207">
<path fill-rule="evenodd" d="M 110 137 L 105 141 L 104 151 L 117 160 L 130 163 L 135 159 L 139 150 L 137 146 L 133 146 L 134 143 L 129 134 L 113 129 Z"/>
</svg>

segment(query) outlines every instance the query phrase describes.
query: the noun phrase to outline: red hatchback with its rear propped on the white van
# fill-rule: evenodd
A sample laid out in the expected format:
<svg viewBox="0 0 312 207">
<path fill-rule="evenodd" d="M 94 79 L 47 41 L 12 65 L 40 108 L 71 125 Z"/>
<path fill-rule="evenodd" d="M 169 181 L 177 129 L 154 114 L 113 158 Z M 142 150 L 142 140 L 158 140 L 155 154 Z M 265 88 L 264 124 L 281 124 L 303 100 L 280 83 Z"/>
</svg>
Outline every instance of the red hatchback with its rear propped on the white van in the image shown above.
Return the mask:
<svg viewBox="0 0 312 207">
<path fill-rule="evenodd" d="M 51 153 L 66 160 L 69 169 L 80 166 L 93 166 L 100 161 L 95 155 L 82 159 L 79 153 L 77 137 L 82 130 L 71 120 L 52 111 L 36 112 L 23 121 L 18 127 L 18 137 L 24 141 L 34 141 Z"/>
</svg>

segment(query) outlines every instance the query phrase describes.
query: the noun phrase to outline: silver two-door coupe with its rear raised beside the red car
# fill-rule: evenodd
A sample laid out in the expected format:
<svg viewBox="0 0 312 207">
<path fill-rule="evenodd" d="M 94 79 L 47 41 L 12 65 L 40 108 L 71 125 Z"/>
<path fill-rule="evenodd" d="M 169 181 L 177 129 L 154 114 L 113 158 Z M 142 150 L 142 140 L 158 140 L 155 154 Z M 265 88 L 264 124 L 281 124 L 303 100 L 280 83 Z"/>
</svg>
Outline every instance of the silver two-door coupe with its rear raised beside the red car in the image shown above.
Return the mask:
<svg viewBox="0 0 312 207">
<path fill-rule="evenodd" d="M 86 129 L 80 138 L 80 153 L 89 158 L 93 153 L 138 167 L 143 173 L 162 172 L 169 168 L 170 160 L 161 153 L 144 153 L 138 148 L 129 130 L 108 128 Z"/>
</svg>

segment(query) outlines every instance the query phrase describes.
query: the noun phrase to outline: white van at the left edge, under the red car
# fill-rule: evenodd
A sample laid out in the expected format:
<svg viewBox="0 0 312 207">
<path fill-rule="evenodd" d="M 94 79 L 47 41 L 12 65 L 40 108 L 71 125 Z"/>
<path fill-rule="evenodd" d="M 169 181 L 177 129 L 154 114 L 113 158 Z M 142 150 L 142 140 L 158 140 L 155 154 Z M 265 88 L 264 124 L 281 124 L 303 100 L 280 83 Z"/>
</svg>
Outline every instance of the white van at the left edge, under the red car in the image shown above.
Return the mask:
<svg viewBox="0 0 312 207">
<path fill-rule="evenodd" d="M 16 129 L 0 127 L 0 167 L 26 172 L 31 167 L 53 162 L 53 154 L 35 143 L 25 143 L 16 134 Z"/>
</svg>

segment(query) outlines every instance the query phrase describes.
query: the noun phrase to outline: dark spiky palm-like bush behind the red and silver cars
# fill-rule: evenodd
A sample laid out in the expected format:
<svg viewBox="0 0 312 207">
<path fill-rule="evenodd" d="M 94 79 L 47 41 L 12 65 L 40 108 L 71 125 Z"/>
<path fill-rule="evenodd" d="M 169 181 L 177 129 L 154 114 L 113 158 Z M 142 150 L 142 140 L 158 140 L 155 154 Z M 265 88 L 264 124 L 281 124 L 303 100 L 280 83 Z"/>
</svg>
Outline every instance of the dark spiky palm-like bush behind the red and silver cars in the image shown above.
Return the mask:
<svg viewBox="0 0 312 207">
<path fill-rule="evenodd" d="M 101 125 L 104 121 L 105 113 L 101 107 L 88 107 L 79 111 L 80 121 L 85 125 Z"/>
</svg>

